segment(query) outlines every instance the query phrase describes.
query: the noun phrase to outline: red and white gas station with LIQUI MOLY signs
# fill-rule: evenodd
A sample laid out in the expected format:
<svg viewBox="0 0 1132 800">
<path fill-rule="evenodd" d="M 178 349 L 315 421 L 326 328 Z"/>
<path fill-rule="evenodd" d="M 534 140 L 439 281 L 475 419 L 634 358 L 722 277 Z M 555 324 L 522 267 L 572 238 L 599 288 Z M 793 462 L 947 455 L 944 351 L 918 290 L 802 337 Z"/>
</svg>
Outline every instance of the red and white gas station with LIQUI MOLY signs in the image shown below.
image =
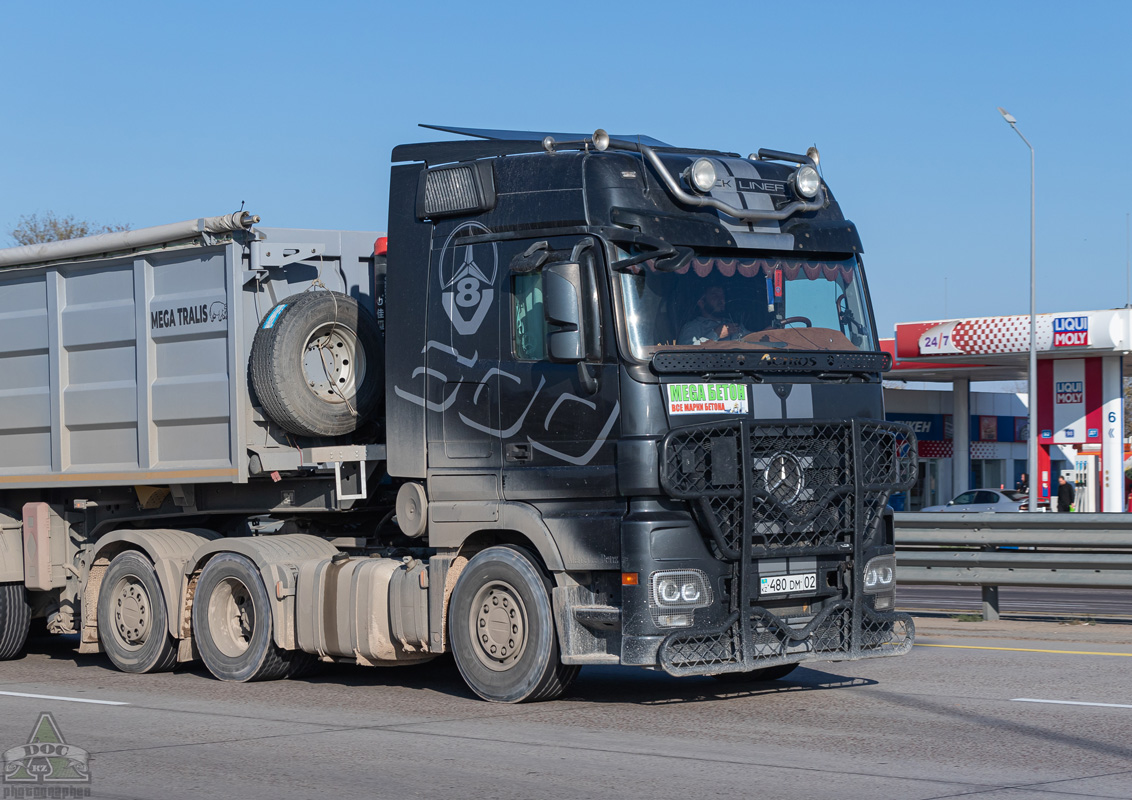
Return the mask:
<svg viewBox="0 0 1132 800">
<path fill-rule="evenodd" d="M 1127 508 L 1123 377 L 1132 353 L 1132 308 L 1037 315 L 1035 347 L 1036 465 L 1026 462 L 1022 399 L 970 390 L 972 381 L 1029 378 L 1029 315 L 901 322 L 894 338 L 882 339 L 893 356 L 884 376 L 885 407 L 899 408 L 886 416 L 921 437 L 923 485 L 906 510 L 933 505 L 927 499 L 946 502 L 968 489 L 1014 489 L 1022 472 L 1037 481 L 1039 505 L 1056 498 L 1061 473 L 1075 484 L 1075 510 Z M 895 389 L 891 381 L 951 384 L 950 403 L 943 393 Z"/>
</svg>

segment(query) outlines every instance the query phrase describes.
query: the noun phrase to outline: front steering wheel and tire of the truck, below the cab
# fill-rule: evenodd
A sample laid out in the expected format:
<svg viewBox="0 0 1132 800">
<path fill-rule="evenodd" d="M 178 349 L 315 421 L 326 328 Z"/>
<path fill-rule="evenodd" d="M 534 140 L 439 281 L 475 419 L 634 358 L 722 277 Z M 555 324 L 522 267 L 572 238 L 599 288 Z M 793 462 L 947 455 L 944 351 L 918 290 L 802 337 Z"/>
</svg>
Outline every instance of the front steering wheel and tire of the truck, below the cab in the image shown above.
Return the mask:
<svg viewBox="0 0 1132 800">
<path fill-rule="evenodd" d="M 550 582 L 522 548 L 488 548 L 468 562 L 448 626 L 460 674 L 486 700 L 554 699 L 577 677 L 558 660 Z"/>
</svg>

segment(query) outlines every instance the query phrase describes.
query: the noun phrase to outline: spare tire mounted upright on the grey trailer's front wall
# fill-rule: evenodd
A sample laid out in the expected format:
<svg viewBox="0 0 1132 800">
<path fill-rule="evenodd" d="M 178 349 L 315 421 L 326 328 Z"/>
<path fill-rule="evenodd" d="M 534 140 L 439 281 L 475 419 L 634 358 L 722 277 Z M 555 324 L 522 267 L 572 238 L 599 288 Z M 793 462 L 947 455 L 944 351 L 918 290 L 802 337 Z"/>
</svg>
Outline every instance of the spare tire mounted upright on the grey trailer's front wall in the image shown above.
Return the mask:
<svg viewBox="0 0 1132 800">
<path fill-rule="evenodd" d="M 256 398 L 291 433 L 344 436 L 380 412 L 377 320 L 340 292 L 306 292 L 275 306 L 256 332 L 250 362 Z"/>
</svg>

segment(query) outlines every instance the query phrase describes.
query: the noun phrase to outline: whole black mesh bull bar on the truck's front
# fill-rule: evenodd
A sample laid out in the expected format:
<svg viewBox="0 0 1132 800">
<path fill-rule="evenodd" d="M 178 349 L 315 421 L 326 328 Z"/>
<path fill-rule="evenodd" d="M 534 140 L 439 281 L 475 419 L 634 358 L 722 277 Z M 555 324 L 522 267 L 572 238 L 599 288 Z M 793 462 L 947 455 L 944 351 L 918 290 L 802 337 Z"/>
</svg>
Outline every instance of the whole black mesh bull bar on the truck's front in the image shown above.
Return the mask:
<svg viewBox="0 0 1132 800">
<path fill-rule="evenodd" d="M 730 619 L 669 635 L 661 665 L 701 674 L 907 652 L 911 618 L 875 611 L 859 574 L 851 591 L 815 597 L 805 614 L 789 602 L 760 605 L 755 584 L 765 558 L 835 554 L 863 564 L 889 497 L 915 481 L 915 451 L 910 429 L 880 421 L 738 420 L 670 432 L 661 485 L 693 506 L 735 579 Z"/>
</svg>

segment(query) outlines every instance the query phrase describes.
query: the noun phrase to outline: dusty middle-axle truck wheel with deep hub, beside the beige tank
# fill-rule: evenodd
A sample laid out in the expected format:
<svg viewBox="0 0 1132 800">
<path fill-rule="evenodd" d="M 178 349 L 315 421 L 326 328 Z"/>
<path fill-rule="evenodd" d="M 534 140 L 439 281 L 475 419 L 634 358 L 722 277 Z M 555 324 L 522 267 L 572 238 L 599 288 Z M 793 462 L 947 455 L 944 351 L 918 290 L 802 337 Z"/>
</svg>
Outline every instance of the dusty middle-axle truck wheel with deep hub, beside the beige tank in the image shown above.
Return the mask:
<svg viewBox="0 0 1132 800">
<path fill-rule="evenodd" d="M 275 644 L 272 628 L 271 602 L 255 564 L 220 553 L 205 565 L 192 601 L 192 638 L 209 672 L 238 682 L 283 678 L 295 654 Z"/>
</svg>

